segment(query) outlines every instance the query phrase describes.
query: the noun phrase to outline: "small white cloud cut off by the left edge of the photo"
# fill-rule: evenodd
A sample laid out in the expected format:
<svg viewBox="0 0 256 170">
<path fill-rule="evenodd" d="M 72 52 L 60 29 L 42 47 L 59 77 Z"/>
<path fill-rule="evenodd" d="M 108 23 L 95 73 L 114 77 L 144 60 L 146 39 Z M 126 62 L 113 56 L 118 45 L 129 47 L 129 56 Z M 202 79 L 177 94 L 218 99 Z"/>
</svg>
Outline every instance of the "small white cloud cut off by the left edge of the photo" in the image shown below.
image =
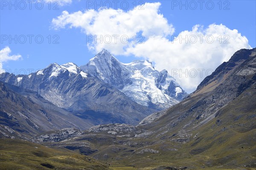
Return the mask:
<svg viewBox="0 0 256 170">
<path fill-rule="evenodd" d="M 5 70 L 3 69 L 3 63 L 8 62 L 10 60 L 16 61 L 18 59 L 21 59 L 21 55 L 10 55 L 11 53 L 11 49 L 9 48 L 9 46 L 6 46 L 5 48 L 3 48 L 0 51 L 0 73 L 5 72 Z"/>
</svg>

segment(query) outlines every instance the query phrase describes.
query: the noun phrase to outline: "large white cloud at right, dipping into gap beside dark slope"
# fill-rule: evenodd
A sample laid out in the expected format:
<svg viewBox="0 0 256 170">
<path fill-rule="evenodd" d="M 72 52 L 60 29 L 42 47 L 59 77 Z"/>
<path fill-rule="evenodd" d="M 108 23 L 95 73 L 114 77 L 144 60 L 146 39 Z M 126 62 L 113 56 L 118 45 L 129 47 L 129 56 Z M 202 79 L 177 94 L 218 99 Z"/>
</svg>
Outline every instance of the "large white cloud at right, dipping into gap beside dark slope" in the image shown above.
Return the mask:
<svg viewBox="0 0 256 170">
<path fill-rule="evenodd" d="M 128 48 L 126 53 L 155 62 L 156 69 L 165 68 L 186 91 L 192 92 L 218 65 L 228 61 L 234 52 L 251 48 L 246 37 L 222 24 L 212 24 L 205 29 L 196 25 L 191 31 L 180 32 L 177 37 L 174 41 L 161 36 L 150 37 L 145 44 Z M 180 42 L 181 38 L 184 40 Z"/>
</svg>

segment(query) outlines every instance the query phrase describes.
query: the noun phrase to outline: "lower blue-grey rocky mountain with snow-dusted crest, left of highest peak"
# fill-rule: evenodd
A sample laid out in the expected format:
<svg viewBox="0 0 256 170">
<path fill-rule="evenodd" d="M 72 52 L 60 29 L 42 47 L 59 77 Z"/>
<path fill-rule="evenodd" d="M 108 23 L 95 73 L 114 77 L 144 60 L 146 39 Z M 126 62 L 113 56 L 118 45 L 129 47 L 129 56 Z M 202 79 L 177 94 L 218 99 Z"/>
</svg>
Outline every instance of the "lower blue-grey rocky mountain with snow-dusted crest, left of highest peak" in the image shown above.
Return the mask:
<svg viewBox="0 0 256 170">
<path fill-rule="evenodd" d="M 64 65 L 53 63 L 29 75 L 3 73 L 0 81 L 35 91 L 54 105 L 88 119 L 94 125 L 137 125 L 156 111 L 132 101 L 113 86 L 81 71 L 72 62 Z"/>
</svg>

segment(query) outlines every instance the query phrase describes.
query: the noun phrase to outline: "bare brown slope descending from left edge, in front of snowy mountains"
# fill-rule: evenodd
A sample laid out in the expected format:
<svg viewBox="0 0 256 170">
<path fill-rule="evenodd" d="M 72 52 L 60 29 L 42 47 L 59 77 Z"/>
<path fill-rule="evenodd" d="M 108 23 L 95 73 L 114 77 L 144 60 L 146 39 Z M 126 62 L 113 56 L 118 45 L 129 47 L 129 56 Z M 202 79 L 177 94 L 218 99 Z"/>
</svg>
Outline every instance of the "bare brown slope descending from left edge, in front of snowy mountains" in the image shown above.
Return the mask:
<svg viewBox="0 0 256 170">
<path fill-rule="evenodd" d="M 0 82 L 0 134 L 30 137 L 62 128 L 93 126 L 73 113 L 58 108 L 37 93 Z"/>
</svg>

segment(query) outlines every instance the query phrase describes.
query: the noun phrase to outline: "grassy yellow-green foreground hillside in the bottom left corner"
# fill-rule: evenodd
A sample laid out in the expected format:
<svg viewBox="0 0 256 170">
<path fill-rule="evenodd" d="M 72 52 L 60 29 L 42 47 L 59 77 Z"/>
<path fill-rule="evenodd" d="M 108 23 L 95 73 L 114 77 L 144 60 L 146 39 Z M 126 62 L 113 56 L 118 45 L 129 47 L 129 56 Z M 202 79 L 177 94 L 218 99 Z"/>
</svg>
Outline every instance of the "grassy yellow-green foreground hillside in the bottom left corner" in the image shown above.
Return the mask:
<svg viewBox="0 0 256 170">
<path fill-rule="evenodd" d="M 1 170 L 109 170 L 89 156 L 15 139 L 1 139 Z"/>
</svg>

